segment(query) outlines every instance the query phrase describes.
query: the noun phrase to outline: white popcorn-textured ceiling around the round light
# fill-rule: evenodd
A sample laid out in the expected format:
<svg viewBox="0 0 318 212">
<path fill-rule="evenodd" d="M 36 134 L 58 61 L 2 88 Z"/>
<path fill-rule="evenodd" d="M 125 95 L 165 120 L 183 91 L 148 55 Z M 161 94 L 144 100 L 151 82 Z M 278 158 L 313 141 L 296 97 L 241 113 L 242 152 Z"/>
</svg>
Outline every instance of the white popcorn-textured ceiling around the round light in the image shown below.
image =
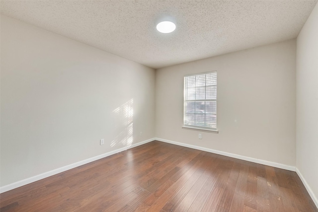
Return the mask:
<svg viewBox="0 0 318 212">
<path fill-rule="evenodd" d="M 1 14 L 161 68 L 296 38 L 317 0 L 1 0 Z M 159 20 L 176 30 L 162 34 Z"/>
</svg>

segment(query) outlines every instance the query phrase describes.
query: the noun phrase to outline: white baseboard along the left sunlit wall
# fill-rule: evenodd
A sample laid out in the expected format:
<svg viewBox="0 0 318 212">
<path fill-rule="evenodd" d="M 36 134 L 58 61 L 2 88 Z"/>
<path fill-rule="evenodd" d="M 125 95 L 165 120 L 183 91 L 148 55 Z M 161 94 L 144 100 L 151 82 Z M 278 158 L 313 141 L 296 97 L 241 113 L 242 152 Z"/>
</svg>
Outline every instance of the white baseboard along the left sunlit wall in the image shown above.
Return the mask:
<svg viewBox="0 0 318 212">
<path fill-rule="evenodd" d="M 42 180 L 44 178 L 53 176 L 55 174 L 59 174 L 61 172 L 76 168 L 76 167 L 84 165 L 86 163 L 90 163 L 92 161 L 99 160 L 101 158 L 110 156 L 112 154 L 116 154 L 116 153 L 121 152 L 121 151 L 125 151 L 125 150 L 130 149 L 130 148 L 134 148 L 136 146 L 139 146 L 139 145 L 142 145 L 142 144 L 154 141 L 154 140 L 155 140 L 155 138 L 148 139 L 146 141 L 141 141 L 139 143 L 135 143 L 135 144 L 132 144 L 130 146 L 125 146 L 125 147 L 122 147 L 122 148 L 119 148 L 119 149 L 116 149 L 116 150 L 113 150 L 113 151 L 110 151 L 110 152 L 107 152 L 107 153 L 104 153 L 104 154 L 97 155 L 95 157 L 91 157 L 91 158 L 88 158 L 88 159 L 85 159 L 85 160 L 81 160 L 79 162 L 76 162 L 76 163 L 73 163 L 73 164 L 70 164 L 70 165 L 67 165 L 67 166 L 63 166 L 61 168 L 54 169 L 52 171 L 48 171 L 48 172 L 45 172 L 45 173 L 30 177 L 30 178 L 27 178 L 27 179 L 24 179 L 24 180 L 20 180 L 20 181 L 15 182 L 15 183 L 11 183 L 9 185 L 2 186 L 2 187 L 0 187 L 0 193 L 6 192 L 6 191 L 10 191 L 12 189 L 27 185 L 29 183 L 33 183 L 33 182 L 38 181 L 38 180 Z"/>
</svg>

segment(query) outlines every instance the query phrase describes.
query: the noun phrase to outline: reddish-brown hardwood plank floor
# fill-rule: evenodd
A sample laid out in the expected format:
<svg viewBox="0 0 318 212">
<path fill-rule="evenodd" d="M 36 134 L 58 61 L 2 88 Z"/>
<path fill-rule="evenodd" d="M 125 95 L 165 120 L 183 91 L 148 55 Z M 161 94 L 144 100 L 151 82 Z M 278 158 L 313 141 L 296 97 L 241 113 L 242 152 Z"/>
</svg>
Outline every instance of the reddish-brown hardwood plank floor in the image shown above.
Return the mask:
<svg viewBox="0 0 318 212">
<path fill-rule="evenodd" d="M 159 141 L 0 200 L 1 212 L 318 212 L 295 172 Z"/>
</svg>

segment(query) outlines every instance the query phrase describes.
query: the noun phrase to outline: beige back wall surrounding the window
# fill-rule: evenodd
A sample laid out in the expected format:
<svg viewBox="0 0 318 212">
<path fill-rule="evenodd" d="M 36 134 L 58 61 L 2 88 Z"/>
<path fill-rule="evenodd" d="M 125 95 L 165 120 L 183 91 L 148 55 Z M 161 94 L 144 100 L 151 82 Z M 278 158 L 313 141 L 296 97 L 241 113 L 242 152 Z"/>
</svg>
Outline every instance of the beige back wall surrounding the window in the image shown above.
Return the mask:
<svg viewBox="0 0 318 212">
<path fill-rule="evenodd" d="M 218 74 L 219 134 L 181 129 L 183 76 L 206 71 Z M 295 92 L 295 39 L 159 69 L 156 137 L 295 167 Z"/>
</svg>

